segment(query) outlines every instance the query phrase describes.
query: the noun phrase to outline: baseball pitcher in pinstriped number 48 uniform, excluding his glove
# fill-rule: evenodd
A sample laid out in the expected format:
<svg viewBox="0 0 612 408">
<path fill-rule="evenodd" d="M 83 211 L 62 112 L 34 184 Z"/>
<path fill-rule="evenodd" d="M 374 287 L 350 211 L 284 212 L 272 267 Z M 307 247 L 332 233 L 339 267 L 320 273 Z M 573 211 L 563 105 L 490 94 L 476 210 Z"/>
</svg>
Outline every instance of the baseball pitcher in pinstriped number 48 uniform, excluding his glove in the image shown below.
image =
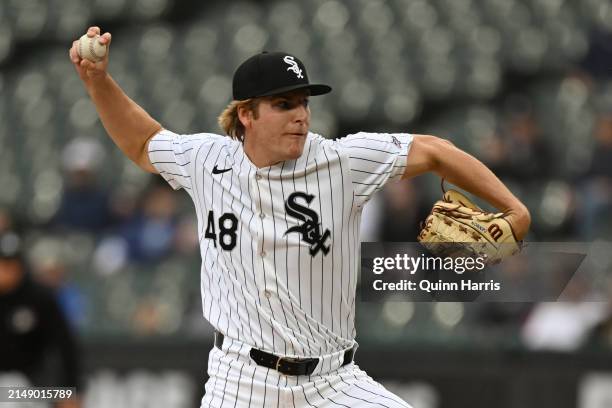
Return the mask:
<svg viewBox="0 0 612 408">
<path fill-rule="evenodd" d="M 110 33 L 97 41 L 110 51 Z M 310 132 L 308 100 L 331 88 L 311 83 L 290 53 L 237 68 L 223 135 L 178 135 L 113 81 L 109 52 L 92 62 L 77 48 L 71 61 L 109 136 L 193 200 L 203 313 L 216 330 L 202 407 L 408 407 L 353 362 L 364 204 L 391 180 L 435 172 L 502 211 L 517 239 L 526 207 L 440 138 Z"/>
</svg>

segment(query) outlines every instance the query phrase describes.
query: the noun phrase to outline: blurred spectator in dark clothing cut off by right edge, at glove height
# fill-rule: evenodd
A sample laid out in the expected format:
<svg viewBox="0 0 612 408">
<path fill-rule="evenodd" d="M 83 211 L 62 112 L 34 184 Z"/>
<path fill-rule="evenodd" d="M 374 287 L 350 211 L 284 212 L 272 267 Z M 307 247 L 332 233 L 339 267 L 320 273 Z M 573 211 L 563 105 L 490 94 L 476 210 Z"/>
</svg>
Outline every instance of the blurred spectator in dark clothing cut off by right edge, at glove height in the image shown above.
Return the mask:
<svg viewBox="0 0 612 408">
<path fill-rule="evenodd" d="M 579 183 L 579 229 L 586 240 L 612 237 L 612 114 L 598 118 L 594 136 L 591 164 Z"/>
</svg>

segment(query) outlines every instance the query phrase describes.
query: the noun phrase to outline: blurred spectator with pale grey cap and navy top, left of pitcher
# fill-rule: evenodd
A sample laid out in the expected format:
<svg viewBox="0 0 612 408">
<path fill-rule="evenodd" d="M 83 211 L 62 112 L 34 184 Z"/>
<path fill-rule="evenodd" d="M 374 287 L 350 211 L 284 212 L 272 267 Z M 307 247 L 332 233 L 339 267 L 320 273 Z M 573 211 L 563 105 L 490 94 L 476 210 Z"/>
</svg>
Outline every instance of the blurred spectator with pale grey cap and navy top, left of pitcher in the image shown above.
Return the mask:
<svg viewBox="0 0 612 408">
<path fill-rule="evenodd" d="M 66 184 L 54 226 L 99 233 L 111 225 L 109 193 L 97 179 L 103 159 L 104 150 L 95 140 L 76 138 L 66 145 L 62 156 Z"/>
</svg>

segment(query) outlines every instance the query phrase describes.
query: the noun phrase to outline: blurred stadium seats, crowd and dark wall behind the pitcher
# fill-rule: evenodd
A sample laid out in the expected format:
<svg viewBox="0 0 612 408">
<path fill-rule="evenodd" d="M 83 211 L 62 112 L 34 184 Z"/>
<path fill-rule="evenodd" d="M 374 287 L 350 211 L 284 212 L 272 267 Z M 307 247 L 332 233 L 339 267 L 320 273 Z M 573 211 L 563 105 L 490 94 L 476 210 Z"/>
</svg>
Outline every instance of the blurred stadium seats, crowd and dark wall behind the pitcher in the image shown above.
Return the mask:
<svg viewBox="0 0 612 408">
<path fill-rule="evenodd" d="M 212 346 L 188 196 L 112 145 L 69 63 L 92 24 L 116 81 L 182 133 L 218 131 L 243 59 L 295 53 L 334 87 L 314 131 L 448 138 L 528 204 L 530 240 L 587 242 L 612 277 L 610 1 L 5 0 L 0 229 L 79 334 L 87 407 L 196 406 Z M 362 239 L 414 241 L 439 195 L 390 186 Z M 357 362 L 415 408 L 612 407 L 609 282 L 556 304 L 362 302 Z"/>
</svg>

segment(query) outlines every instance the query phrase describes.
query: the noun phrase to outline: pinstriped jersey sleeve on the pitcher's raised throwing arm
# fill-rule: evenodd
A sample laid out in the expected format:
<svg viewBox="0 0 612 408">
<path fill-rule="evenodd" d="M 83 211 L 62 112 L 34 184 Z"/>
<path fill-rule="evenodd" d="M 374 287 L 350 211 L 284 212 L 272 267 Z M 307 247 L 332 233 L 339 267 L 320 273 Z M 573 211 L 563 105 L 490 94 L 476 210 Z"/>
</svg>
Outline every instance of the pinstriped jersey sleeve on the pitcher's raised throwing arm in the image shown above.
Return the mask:
<svg viewBox="0 0 612 408">
<path fill-rule="evenodd" d="M 191 189 L 192 157 L 206 134 L 178 135 L 162 129 L 149 142 L 149 160 L 159 174 L 175 189 Z"/>
</svg>

